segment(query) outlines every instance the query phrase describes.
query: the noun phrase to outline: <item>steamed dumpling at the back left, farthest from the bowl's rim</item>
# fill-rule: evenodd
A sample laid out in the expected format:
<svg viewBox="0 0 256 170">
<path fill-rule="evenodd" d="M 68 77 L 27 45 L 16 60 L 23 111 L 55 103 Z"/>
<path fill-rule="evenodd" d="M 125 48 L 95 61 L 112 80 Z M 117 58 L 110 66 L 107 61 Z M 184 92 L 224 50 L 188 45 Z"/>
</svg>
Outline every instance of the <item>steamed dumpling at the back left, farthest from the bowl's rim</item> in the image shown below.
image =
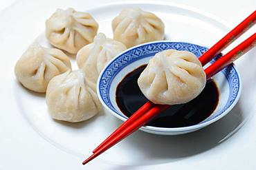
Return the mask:
<svg viewBox="0 0 256 170">
<path fill-rule="evenodd" d="M 98 23 L 91 14 L 77 12 L 73 8 L 56 10 L 46 20 L 46 37 L 55 47 L 77 53 L 81 47 L 91 43 L 97 34 Z"/>
</svg>

